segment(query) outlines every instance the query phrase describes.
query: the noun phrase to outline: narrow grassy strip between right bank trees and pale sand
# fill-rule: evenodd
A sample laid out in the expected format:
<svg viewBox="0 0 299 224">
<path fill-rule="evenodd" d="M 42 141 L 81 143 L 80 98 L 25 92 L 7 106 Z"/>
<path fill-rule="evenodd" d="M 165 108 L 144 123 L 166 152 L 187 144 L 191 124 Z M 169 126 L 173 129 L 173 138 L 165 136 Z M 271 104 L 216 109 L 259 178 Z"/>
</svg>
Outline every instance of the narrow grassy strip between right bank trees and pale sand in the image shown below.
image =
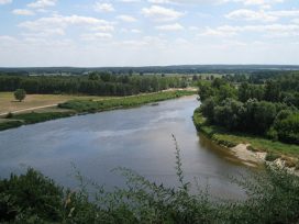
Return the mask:
<svg viewBox="0 0 299 224">
<path fill-rule="evenodd" d="M 198 110 L 196 110 L 193 114 L 193 121 L 198 131 L 201 131 L 214 142 L 221 145 L 233 147 L 241 143 L 245 143 L 251 144 L 251 149 L 253 150 L 267 152 L 299 158 L 298 145 L 284 144 L 280 142 L 274 142 L 258 136 L 246 135 L 243 133 L 230 133 L 218 126 L 208 125 L 206 123 L 206 119 L 202 117 Z"/>
</svg>

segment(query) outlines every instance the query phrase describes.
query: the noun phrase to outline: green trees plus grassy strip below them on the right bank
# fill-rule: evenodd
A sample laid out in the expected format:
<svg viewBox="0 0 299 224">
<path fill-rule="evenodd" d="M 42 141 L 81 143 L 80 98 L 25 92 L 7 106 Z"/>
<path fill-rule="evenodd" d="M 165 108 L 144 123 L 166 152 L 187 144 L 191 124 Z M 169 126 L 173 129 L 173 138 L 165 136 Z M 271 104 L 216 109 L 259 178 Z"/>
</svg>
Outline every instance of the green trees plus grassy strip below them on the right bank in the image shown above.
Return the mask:
<svg viewBox="0 0 299 224">
<path fill-rule="evenodd" d="M 250 143 L 251 149 L 299 155 L 299 74 L 252 75 L 199 82 L 199 130 L 219 144 Z M 253 80 L 255 82 L 253 82 Z"/>
</svg>

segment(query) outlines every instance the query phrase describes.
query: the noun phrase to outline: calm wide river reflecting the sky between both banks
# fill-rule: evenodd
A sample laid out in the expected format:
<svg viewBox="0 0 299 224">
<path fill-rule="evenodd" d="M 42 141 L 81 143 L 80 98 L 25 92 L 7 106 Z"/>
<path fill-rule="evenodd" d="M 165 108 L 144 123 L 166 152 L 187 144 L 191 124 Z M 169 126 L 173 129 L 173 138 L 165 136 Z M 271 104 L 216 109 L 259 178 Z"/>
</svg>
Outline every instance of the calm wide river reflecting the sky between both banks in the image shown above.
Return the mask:
<svg viewBox="0 0 299 224">
<path fill-rule="evenodd" d="M 0 132 L 0 177 L 33 167 L 66 187 L 77 186 L 75 164 L 82 176 L 123 186 L 111 173 L 132 168 L 151 180 L 176 186 L 174 134 L 181 149 L 187 180 L 209 184 L 213 195 L 239 198 L 243 191 L 228 176 L 244 172 L 228 152 L 198 136 L 192 123 L 196 97 L 73 116 Z"/>
</svg>

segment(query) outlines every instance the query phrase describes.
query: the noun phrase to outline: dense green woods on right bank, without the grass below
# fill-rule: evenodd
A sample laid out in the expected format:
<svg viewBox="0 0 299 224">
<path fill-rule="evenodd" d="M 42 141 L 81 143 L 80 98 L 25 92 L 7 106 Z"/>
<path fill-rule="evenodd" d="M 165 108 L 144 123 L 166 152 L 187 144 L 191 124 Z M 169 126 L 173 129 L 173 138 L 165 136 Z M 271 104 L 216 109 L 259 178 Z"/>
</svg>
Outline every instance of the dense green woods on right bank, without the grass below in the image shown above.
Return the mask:
<svg viewBox="0 0 299 224">
<path fill-rule="evenodd" d="M 199 82 L 200 111 L 229 131 L 299 144 L 299 72 L 257 72 Z"/>
</svg>

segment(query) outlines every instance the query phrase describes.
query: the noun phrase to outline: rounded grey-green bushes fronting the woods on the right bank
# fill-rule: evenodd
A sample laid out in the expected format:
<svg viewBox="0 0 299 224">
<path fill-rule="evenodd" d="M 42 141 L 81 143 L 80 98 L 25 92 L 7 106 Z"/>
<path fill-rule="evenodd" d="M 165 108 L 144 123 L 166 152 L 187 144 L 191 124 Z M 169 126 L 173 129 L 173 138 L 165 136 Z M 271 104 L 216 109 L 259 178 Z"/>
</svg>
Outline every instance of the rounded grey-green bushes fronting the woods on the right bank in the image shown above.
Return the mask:
<svg viewBox="0 0 299 224">
<path fill-rule="evenodd" d="M 277 111 L 284 109 L 280 104 L 265 101 L 248 100 L 242 103 L 226 98 L 217 103 L 213 98 L 207 99 L 200 111 L 212 124 L 230 131 L 245 131 L 254 134 L 265 134 L 272 126 Z"/>
</svg>

